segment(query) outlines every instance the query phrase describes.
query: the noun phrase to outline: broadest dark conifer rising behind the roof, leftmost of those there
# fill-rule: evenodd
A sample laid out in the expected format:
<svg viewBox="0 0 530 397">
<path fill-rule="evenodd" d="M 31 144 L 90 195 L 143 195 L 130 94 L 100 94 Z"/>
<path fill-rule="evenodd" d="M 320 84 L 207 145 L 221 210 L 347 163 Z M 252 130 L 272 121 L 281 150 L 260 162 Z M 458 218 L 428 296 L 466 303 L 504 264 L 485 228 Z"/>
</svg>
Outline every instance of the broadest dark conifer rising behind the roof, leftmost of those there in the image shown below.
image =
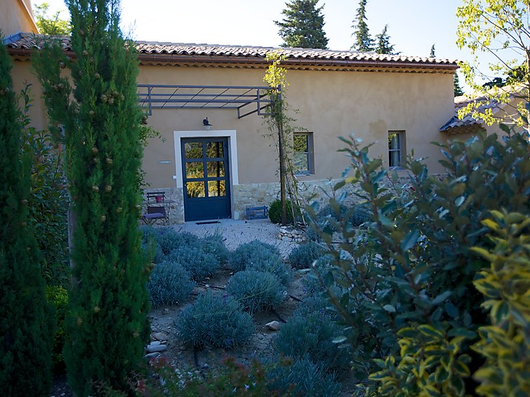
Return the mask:
<svg viewBox="0 0 530 397">
<path fill-rule="evenodd" d="M 319 0 L 291 0 L 286 4 L 284 20 L 274 21 L 279 26 L 279 35 L 284 39 L 282 47 L 327 48 L 322 8 Z"/>
</svg>

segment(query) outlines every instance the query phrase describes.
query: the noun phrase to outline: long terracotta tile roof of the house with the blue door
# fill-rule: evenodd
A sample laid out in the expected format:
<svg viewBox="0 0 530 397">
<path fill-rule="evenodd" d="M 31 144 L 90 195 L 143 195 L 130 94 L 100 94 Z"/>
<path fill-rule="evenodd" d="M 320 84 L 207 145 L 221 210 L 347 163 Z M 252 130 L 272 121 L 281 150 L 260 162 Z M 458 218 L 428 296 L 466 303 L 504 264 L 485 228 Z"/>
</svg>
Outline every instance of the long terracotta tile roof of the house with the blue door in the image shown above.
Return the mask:
<svg viewBox="0 0 530 397">
<path fill-rule="evenodd" d="M 41 48 L 46 36 L 34 35 L 28 33 L 19 33 L 6 38 L 8 50 L 32 50 Z M 58 36 L 65 51 L 72 51 L 69 37 Z M 287 61 L 307 60 L 312 62 L 340 63 L 374 63 L 383 64 L 406 64 L 409 67 L 413 65 L 423 67 L 449 67 L 456 69 L 456 60 L 441 58 L 414 57 L 406 55 L 384 55 L 377 53 L 358 53 L 355 51 L 332 51 L 318 50 L 310 48 L 272 48 L 272 47 L 254 47 L 254 46 L 219 46 L 216 44 L 184 44 L 184 43 L 160 43 L 157 41 L 136 41 L 136 48 L 142 55 L 164 55 L 178 56 L 181 58 L 193 58 L 199 60 L 201 57 L 208 58 L 231 58 L 233 61 L 246 62 L 250 58 L 265 62 L 265 55 L 269 51 L 281 50 L 287 57 Z"/>
</svg>

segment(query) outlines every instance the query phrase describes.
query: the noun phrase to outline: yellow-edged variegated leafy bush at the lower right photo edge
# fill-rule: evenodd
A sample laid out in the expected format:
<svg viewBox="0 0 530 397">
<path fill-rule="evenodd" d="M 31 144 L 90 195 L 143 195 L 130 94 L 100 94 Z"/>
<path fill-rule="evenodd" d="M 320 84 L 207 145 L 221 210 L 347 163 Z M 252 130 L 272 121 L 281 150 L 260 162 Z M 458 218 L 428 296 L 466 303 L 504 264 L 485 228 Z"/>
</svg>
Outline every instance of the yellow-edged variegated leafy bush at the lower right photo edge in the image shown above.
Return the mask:
<svg viewBox="0 0 530 397">
<path fill-rule="evenodd" d="M 472 346 L 486 358 L 473 377 L 482 396 L 523 396 L 530 391 L 530 217 L 491 211 L 482 224 L 495 246 L 472 248 L 490 263 L 473 283 L 491 325 L 479 327 Z"/>
</svg>

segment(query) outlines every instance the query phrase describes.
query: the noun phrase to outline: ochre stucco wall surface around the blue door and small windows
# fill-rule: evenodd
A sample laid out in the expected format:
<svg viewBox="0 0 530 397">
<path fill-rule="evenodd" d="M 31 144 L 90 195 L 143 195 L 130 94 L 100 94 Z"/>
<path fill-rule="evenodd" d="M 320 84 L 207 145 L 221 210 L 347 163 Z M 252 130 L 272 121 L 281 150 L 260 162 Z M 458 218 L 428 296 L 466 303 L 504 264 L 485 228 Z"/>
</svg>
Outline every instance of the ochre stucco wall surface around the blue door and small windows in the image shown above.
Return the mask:
<svg viewBox="0 0 530 397">
<path fill-rule="evenodd" d="M 32 83 L 32 123 L 46 128 L 41 89 L 28 61 L 15 61 L 13 83 Z M 141 66 L 138 83 L 263 86 L 265 69 Z M 314 175 L 300 180 L 340 177 L 348 161 L 337 150 L 344 147 L 339 136 L 354 133 L 363 142 L 377 141 L 371 156 L 383 156 L 387 164 L 387 133 L 404 130 L 406 149 L 426 157 L 432 173 L 442 172 L 437 163 L 439 149 L 432 141 L 446 135 L 438 128 L 453 115 L 452 74 L 321 72 L 289 70 L 286 98 L 297 119 L 296 125 L 313 133 Z M 236 130 L 239 184 L 277 182 L 275 148 L 261 116 L 237 119 L 234 109 L 154 109 L 149 125 L 159 130 L 165 142 L 154 138 L 145 148 L 143 168 L 152 188 L 176 187 L 174 131 L 197 130 L 204 135 L 202 120 L 208 117 L 212 130 Z M 159 163 L 171 161 L 171 163 Z"/>
</svg>

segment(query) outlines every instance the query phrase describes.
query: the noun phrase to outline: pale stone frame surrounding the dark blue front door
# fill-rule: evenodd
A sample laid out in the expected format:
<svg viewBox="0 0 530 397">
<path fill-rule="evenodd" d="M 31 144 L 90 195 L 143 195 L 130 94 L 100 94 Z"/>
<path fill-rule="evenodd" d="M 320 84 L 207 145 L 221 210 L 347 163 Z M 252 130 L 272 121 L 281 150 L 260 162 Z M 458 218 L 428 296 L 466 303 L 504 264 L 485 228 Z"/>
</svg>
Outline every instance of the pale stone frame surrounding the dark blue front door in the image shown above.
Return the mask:
<svg viewBox="0 0 530 397">
<path fill-rule="evenodd" d="M 237 133 L 236 130 L 194 130 L 194 131 L 173 131 L 175 141 L 175 180 L 176 187 L 183 192 L 184 206 L 184 185 L 183 185 L 183 168 L 182 168 L 182 147 L 181 138 L 208 138 L 208 137 L 225 137 L 228 141 L 228 168 L 230 175 L 230 214 L 234 218 L 234 185 L 239 184 L 239 168 L 237 164 Z M 184 208 L 183 208 L 184 214 Z M 185 215 L 184 215 L 185 217 Z M 186 222 L 186 219 L 184 219 Z"/>
</svg>

